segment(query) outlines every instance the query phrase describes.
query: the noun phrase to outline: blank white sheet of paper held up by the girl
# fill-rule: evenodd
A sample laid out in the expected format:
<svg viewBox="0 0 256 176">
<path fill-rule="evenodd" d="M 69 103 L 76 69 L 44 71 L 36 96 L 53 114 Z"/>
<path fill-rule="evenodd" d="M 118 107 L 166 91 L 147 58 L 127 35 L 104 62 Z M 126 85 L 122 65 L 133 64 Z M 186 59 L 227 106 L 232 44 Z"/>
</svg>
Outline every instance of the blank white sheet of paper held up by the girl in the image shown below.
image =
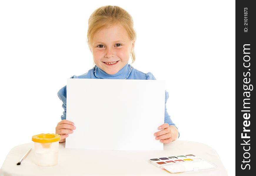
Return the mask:
<svg viewBox="0 0 256 176">
<path fill-rule="evenodd" d="M 164 123 L 164 81 L 68 79 L 66 148 L 163 150 L 154 133 Z"/>
</svg>

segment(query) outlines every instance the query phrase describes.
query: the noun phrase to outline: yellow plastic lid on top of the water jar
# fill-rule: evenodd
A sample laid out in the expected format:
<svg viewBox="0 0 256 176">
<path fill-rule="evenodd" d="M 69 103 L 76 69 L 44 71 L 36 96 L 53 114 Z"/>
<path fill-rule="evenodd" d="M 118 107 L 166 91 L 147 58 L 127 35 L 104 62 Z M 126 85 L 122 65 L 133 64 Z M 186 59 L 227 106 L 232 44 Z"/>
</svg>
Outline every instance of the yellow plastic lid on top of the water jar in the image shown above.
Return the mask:
<svg viewBox="0 0 256 176">
<path fill-rule="evenodd" d="M 39 143 L 51 143 L 51 142 L 57 142 L 60 141 L 61 137 L 59 134 L 38 134 L 35 136 L 32 136 L 32 141 L 39 142 Z"/>
</svg>

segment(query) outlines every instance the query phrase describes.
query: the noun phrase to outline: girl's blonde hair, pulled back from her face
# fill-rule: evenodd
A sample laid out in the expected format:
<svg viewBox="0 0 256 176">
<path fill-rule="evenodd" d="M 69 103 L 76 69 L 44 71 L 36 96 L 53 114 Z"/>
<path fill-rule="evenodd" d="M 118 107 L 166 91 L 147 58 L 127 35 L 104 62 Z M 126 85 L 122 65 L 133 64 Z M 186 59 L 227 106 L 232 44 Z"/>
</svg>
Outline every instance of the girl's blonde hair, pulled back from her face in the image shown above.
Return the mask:
<svg viewBox="0 0 256 176">
<path fill-rule="evenodd" d="M 115 24 L 122 25 L 126 29 L 131 41 L 136 40 L 132 16 L 119 6 L 102 6 L 92 13 L 88 21 L 87 43 L 89 47 L 91 46 L 92 37 L 97 31 Z M 131 57 L 133 63 L 135 61 L 134 50 Z"/>
</svg>

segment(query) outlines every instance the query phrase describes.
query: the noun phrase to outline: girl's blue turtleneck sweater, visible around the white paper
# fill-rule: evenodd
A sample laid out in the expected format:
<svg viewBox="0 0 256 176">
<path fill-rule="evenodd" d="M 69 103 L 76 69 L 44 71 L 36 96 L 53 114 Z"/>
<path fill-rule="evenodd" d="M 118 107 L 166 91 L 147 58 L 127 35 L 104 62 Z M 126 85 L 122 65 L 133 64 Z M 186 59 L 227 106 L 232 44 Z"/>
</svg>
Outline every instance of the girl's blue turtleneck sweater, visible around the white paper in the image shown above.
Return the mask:
<svg viewBox="0 0 256 176">
<path fill-rule="evenodd" d="M 128 63 L 119 70 L 114 75 L 109 75 L 106 72 L 104 72 L 102 69 L 97 67 L 96 65 L 89 70 L 87 73 L 80 75 L 80 76 L 72 76 L 71 78 L 86 78 L 86 79 L 153 79 L 156 78 L 152 75 L 151 72 L 148 72 L 147 74 L 134 69 L 131 65 L 128 65 Z M 59 92 L 58 96 L 59 99 L 63 102 L 62 107 L 64 109 L 63 115 L 61 115 L 61 120 L 66 119 L 66 109 L 67 109 L 67 92 L 66 92 L 67 86 L 62 87 Z M 175 124 L 170 119 L 169 114 L 167 113 L 166 109 L 166 102 L 169 97 L 169 93 L 165 91 L 165 113 L 164 113 L 164 123 L 168 123 L 169 125 Z M 160 125 L 160 124 L 159 124 Z"/>
</svg>

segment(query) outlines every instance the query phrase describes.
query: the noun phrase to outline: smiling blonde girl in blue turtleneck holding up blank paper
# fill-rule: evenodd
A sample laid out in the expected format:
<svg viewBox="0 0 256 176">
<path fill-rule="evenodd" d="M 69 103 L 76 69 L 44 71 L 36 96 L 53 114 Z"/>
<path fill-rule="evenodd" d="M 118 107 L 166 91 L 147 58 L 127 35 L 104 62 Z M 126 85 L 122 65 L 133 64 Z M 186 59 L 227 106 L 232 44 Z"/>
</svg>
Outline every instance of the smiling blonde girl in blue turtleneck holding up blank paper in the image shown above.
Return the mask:
<svg viewBox="0 0 256 176">
<path fill-rule="evenodd" d="M 128 65 L 129 56 L 135 61 L 134 45 L 136 32 L 130 14 L 118 6 L 103 6 L 96 9 L 89 18 L 87 43 L 92 53 L 95 66 L 87 73 L 71 78 L 87 79 L 155 79 L 151 72 L 147 74 Z M 56 134 L 65 142 L 68 134 L 76 129 L 74 123 L 66 120 L 66 86 L 61 88 L 58 96 L 63 102 L 63 115 L 56 126 Z M 165 92 L 165 104 L 169 97 Z M 143 124 L 141 124 L 143 127 Z M 155 139 L 170 143 L 179 136 L 178 129 L 170 119 L 165 105 L 164 124 L 161 131 L 154 133 Z"/>
</svg>

